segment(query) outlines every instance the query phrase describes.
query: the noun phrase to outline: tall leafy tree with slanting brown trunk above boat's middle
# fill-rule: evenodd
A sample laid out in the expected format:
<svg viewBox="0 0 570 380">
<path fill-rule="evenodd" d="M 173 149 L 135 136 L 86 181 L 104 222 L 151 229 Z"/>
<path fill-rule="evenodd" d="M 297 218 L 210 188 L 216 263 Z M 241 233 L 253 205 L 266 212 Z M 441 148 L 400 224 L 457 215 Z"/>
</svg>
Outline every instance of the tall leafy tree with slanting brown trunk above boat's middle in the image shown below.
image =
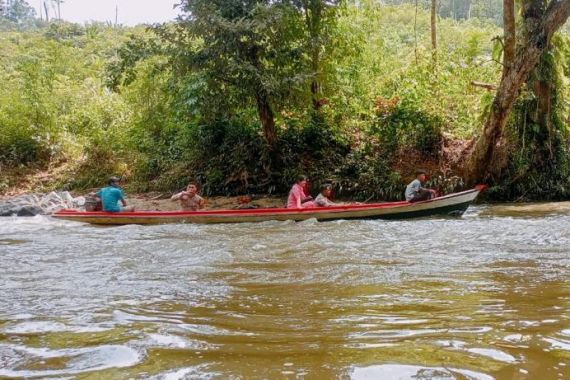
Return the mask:
<svg viewBox="0 0 570 380">
<path fill-rule="evenodd" d="M 292 9 L 272 0 L 183 0 L 180 6 L 179 35 L 202 42 L 188 52 L 188 64 L 205 73 L 211 86 L 229 86 L 252 99 L 263 135 L 274 146 L 275 102 L 292 87 L 297 70 Z"/>
</svg>

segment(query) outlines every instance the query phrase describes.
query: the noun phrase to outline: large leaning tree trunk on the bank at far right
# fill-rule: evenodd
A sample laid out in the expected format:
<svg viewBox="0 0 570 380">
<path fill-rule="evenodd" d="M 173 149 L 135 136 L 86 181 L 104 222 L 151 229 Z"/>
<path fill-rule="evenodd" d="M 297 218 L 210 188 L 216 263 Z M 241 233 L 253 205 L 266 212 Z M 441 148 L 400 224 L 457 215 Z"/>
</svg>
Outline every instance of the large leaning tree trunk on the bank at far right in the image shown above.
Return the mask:
<svg viewBox="0 0 570 380">
<path fill-rule="evenodd" d="M 468 164 L 467 180 L 498 180 L 507 165 L 502 148 L 503 131 L 513 104 L 522 85 L 536 67 L 541 54 L 547 49 L 552 35 L 570 16 L 570 0 L 553 0 L 542 10 L 540 0 L 527 0 L 524 9 L 524 39 L 514 62 L 504 67 L 503 77 L 497 89 L 490 114 Z M 502 152 L 501 152 L 502 150 Z"/>
</svg>

